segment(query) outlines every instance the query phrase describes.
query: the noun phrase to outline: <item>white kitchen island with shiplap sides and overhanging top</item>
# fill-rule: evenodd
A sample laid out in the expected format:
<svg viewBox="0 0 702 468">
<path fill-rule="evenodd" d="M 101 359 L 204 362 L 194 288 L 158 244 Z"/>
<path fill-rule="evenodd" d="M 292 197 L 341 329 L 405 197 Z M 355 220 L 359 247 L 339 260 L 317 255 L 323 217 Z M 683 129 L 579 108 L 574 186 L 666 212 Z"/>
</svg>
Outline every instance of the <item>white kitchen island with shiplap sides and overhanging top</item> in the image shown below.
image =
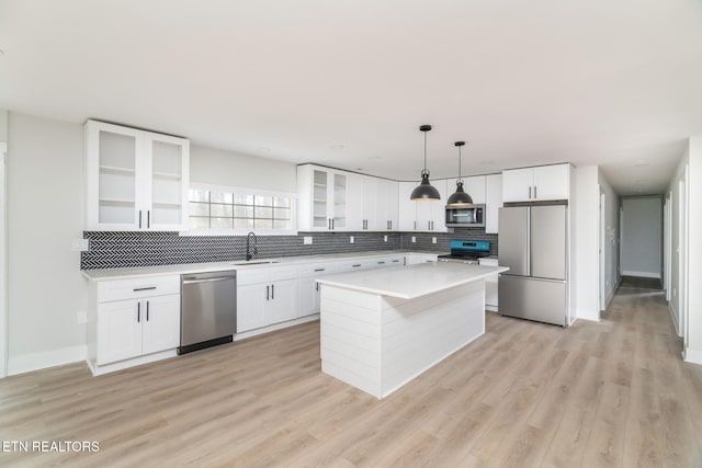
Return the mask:
<svg viewBox="0 0 702 468">
<path fill-rule="evenodd" d="M 485 333 L 485 277 L 507 270 L 433 262 L 318 278 L 321 370 L 387 397 Z"/>
</svg>

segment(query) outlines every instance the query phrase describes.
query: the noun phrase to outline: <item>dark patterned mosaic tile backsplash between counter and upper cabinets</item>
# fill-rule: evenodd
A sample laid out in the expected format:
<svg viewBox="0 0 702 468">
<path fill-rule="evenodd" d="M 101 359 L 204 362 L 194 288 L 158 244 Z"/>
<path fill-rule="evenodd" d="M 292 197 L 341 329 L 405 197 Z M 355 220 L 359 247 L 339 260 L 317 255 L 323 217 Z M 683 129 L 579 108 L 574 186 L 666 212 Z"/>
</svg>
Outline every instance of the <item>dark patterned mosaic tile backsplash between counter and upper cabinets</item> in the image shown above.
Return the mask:
<svg viewBox="0 0 702 468">
<path fill-rule="evenodd" d="M 313 244 L 304 246 L 303 237 Z M 349 238 L 354 237 L 354 243 Z M 387 242 L 383 237 L 387 236 Z M 411 241 L 415 237 L 416 242 Z M 437 243 L 432 243 L 432 238 Z M 81 252 L 81 270 L 123 269 L 245 260 L 246 236 L 179 236 L 178 232 L 84 231 L 90 250 Z M 419 250 L 448 253 L 451 239 L 489 240 L 497 255 L 497 235 L 456 228 L 452 233 L 418 232 L 299 232 L 297 236 L 258 236 L 257 259 L 318 255 L 374 250 Z"/>
</svg>

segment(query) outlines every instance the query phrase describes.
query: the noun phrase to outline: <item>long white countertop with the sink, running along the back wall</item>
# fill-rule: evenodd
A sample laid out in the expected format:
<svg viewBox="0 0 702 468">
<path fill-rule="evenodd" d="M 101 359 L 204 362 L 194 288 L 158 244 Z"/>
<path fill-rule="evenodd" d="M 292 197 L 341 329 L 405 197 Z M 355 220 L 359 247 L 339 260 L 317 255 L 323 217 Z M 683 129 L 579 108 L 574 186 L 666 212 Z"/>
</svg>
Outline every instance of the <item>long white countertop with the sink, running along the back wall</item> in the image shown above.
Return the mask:
<svg viewBox="0 0 702 468">
<path fill-rule="evenodd" d="M 258 267 L 273 267 L 273 266 L 287 266 L 297 265 L 312 262 L 333 262 L 344 259 L 360 259 L 360 258 L 374 258 L 374 256 L 387 256 L 387 255 L 422 255 L 430 254 L 435 255 L 437 252 L 420 252 L 408 250 L 375 250 L 371 252 L 347 252 L 347 253 L 328 253 L 321 255 L 299 255 L 299 256 L 281 256 L 278 259 L 253 259 L 250 262 L 246 261 L 229 261 L 229 262 L 212 262 L 212 263 L 185 263 L 176 265 L 159 265 L 159 266 L 135 266 L 129 269 L 104 269 L 104 270 L 82 270 L 81 273 L 84 277 L 91 281 L 109 281 L 109 279 L 125 279 L 137 278 L 145 276 L 158 276 L 167 274 L 188 274 L 188 273 L 206 273 L 218 272 L 224 270 L 240 270 L 240 269 L 258 269 Z M 267 262 L 267 263 L 257 263 Z"/>
</svg>

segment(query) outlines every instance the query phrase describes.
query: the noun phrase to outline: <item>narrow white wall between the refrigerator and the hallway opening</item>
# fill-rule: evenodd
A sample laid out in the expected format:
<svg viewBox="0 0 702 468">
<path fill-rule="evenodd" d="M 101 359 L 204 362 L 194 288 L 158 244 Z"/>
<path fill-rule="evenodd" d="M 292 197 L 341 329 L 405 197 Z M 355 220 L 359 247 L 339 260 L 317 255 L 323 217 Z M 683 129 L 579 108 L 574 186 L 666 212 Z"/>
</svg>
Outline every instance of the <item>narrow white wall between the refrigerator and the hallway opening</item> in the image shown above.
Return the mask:
<svg viewBox="0 0 702 468">
<path fill-rule="evenodd" d="M 575 240 L 571 255 L 575 256 L 576 316 L 578 319 L 600 320 L 598 300 L 599 281 L 599 168 L 581 165 L 575 170 L 574 197 Z"/>
</svg>

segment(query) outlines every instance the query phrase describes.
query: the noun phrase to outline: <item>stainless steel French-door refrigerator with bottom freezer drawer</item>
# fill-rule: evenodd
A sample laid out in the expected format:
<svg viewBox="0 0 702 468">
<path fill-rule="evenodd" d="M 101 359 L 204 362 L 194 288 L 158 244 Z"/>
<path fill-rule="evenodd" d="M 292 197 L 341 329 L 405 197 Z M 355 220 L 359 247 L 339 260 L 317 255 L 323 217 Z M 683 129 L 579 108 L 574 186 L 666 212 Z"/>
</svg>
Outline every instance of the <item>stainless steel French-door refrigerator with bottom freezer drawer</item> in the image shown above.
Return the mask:
<svg viewBox="0 0 702 468">
<path fill-rule="evenodd" d="M 502 316 L 567 327 L 566 205 L 500 208 L 498 281 Z"/>
</svg>

